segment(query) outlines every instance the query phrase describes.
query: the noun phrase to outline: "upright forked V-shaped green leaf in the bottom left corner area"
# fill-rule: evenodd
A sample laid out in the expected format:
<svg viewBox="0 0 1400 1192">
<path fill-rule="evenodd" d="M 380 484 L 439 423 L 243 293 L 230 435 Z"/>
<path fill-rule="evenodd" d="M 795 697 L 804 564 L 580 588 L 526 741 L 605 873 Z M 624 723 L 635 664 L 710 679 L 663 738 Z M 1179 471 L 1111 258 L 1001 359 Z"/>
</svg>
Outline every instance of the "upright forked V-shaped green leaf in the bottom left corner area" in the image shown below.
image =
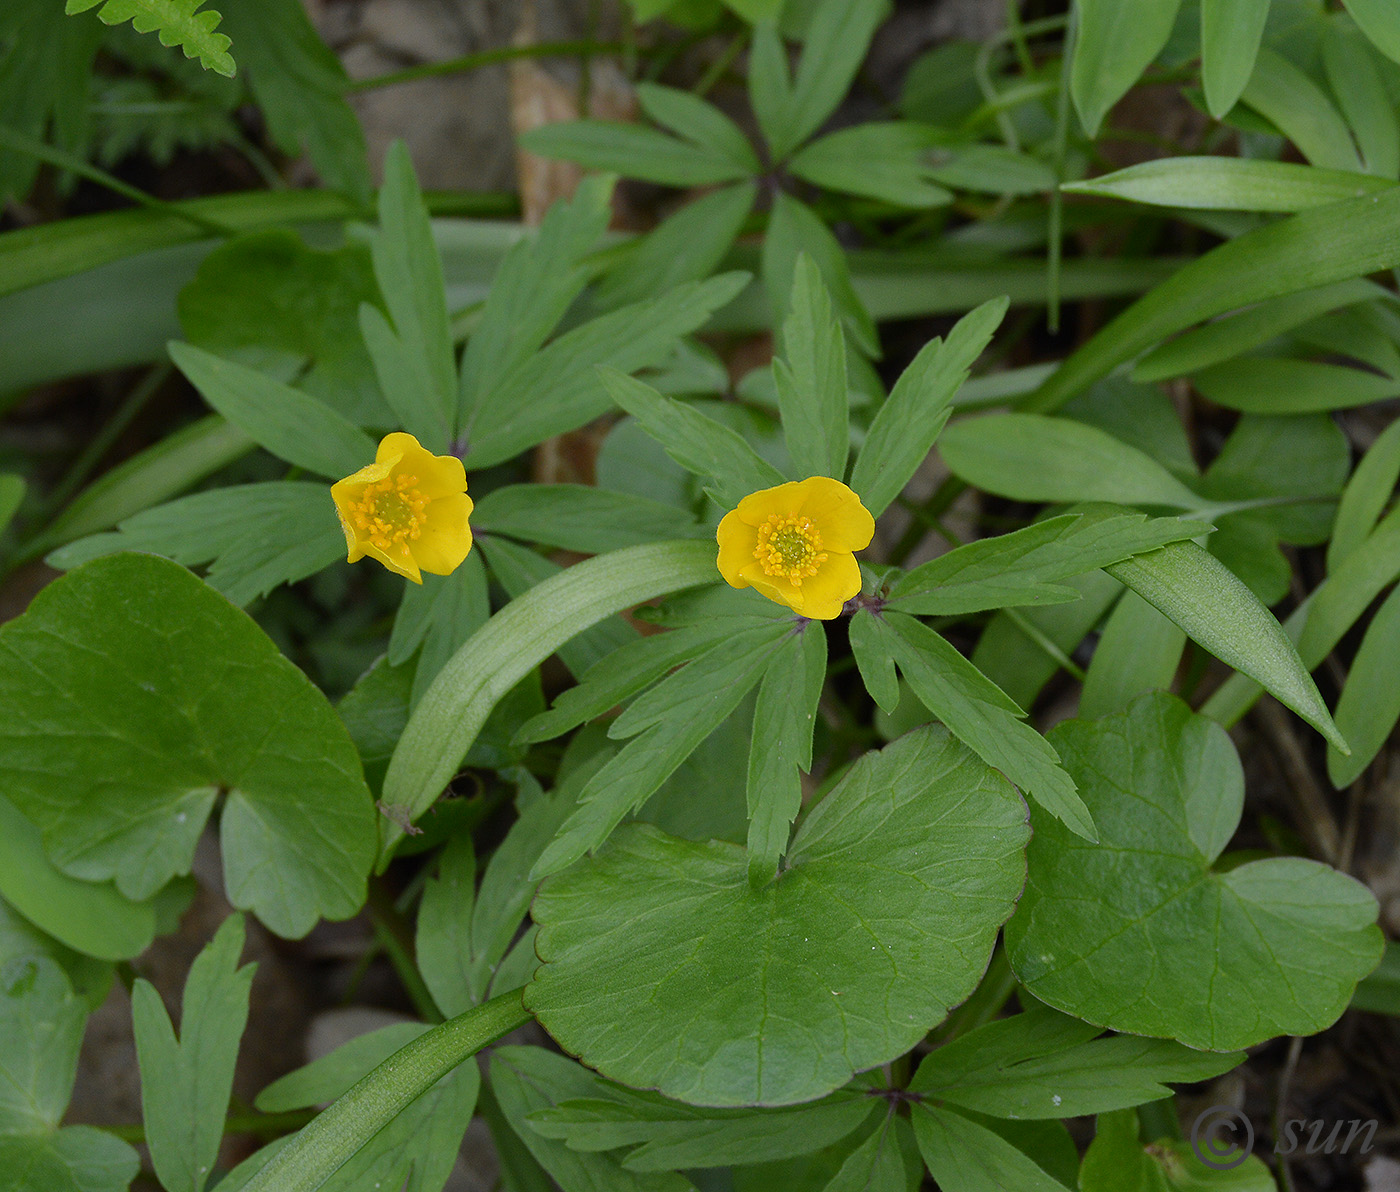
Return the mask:
<svg viewBox="0 0 1400 1192">
<path fill-rule="evenodd" d="M 242 950 L 244 920 L 231 915 L 190 966 L 179 1039 L 155 986 L 132 989 L 146 1143 L 167 1192 L 204 1192 L 218 1157 L 256 968 L 238 968 Z"/>
</svg>

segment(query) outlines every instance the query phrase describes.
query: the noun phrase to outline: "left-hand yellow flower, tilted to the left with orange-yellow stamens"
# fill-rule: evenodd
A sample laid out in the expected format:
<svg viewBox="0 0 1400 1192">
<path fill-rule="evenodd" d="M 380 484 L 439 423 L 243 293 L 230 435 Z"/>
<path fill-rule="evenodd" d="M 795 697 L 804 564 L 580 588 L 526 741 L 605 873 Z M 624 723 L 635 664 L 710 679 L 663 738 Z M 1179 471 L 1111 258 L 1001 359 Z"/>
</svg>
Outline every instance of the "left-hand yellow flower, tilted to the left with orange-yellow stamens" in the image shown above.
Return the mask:
<svg viewBox="0 0 1400 1192">
<path fill-rule="evenodd" d="M 386 434 L 374 462 L 330 486 L 351 563 L 368 555 L 423 583 L 448 576 L 472 549 L 472 499 L 455 455 L 434 455 L 412 434 Z"/>
</svg>

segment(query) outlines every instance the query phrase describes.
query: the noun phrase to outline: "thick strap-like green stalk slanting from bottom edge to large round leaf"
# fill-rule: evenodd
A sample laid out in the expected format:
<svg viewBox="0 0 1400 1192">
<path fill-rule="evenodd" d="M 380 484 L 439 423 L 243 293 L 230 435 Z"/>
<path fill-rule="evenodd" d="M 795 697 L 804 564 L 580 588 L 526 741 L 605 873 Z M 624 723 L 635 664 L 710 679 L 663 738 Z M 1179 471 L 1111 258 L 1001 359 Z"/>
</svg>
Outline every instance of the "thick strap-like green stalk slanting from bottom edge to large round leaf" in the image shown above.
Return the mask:
<svg viewBox="0 0 1400 1192">
<path fill-rule="evenodd" d="M 419 1035 L 307 1125 L 244 1192 L 315 1192 L 454 1067 L 528 1021 L 512 989 Z"/>
</svg>

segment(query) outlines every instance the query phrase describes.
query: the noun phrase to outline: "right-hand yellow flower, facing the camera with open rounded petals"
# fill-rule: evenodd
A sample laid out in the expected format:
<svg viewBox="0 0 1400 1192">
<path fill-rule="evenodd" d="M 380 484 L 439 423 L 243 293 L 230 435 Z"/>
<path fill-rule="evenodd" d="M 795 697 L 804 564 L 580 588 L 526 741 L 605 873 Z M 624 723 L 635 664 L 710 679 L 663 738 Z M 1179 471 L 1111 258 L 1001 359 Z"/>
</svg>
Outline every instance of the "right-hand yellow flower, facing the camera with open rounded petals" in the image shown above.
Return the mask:
<svg viewBox="0 0 1400 1192">
<path fill-rule="evenodd" d="M 830 621 L 861 590 L 854 550 L 875 536 L 875 518 L 840 480 L 809 476 L 750 493 L 727 513 L 715 538 L 720 574 L 755 587 L 802 616 Z"/>
</svg>

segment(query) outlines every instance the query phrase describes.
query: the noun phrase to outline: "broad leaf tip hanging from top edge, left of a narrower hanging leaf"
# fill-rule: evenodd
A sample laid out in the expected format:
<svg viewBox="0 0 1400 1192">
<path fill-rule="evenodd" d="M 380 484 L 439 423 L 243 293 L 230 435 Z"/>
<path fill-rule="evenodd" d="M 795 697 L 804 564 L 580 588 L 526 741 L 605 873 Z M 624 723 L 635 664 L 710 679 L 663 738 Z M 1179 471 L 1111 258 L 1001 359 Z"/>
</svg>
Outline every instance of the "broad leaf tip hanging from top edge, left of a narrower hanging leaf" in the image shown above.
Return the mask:
<svg viewBox="0 0 1400 1192">
<path fill-rule="evenodd" d="M 1079 0 L 1070 94 L 1091 137 L 1109 108 L 1137 83 L 1172 32 L 1180 0 Z"/>
</svg>

